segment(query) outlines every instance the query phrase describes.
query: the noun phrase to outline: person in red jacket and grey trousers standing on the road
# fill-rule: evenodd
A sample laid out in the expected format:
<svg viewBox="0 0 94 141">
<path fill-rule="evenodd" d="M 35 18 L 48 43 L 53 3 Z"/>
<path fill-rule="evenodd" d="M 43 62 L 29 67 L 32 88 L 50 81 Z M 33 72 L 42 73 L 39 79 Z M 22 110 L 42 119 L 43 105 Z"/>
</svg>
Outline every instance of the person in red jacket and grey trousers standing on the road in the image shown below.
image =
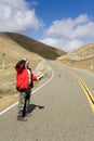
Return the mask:
<svg viewBox="0 0 94 141">
<path fill-rule="evenodd" d="M 18 101 L 18 113 L 17 119 L 26 121 L 25 118 L 28 105 L 30 104 L 30 93 L 31 88 L 33 87 L 33 80 L 40 79 L 32 74 L 31 68 L 29 68 L 29 62 L 26 59 L 19 61 L 15 69 L 16 75 L 16 88 L 19 91 L 19 101 Z"/>
</svg>

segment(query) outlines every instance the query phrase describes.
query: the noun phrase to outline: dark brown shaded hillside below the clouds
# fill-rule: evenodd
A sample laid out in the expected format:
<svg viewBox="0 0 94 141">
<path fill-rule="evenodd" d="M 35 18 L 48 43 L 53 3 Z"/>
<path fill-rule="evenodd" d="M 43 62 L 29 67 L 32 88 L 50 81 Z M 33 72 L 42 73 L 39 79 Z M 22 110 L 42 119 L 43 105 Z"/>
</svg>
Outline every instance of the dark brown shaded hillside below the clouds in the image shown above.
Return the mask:
<svg viewBox="0 0 94 141">
<path fill-rule="evenodd" d="M 61 49 L 56 49 L 39 42 L 32 38 L 15 34 L 15 33 L 2 33 L 0 36 L 5 37 L 5 39 L 10 39 L 11 42 L 15 42 L 27 51 L 39 54 L 40 56 L 48 60 L 55 60 L 56 57 L 64 55 L 65 52 Z M 6 40 L 8 40 L 6 39 Z M 9 42 L 9 41 L 8 41 Z"/>
</svg>

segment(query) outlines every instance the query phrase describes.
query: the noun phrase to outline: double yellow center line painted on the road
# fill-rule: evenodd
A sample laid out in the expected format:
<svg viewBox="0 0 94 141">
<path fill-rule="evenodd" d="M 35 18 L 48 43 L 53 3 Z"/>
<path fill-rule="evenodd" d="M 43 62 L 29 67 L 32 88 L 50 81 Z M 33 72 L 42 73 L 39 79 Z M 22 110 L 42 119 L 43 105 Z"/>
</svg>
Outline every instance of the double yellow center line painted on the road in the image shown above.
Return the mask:
<svg viewBox="0 0 94 141">
<path fill-rule="evenodd" d="M 83 91 L 89 100 L 91 108 L 94 112 L 94 97 L 93 97 L 93 94 L 91 93 L 91 91 L 89 90 L 89 88 L 86 87 L 84 81 L 79 76 L 77 76 L 75 73 L 71 73 L 71 72 L 69 72 L 69 73 L 79 81 L 80 86 L 82 87 L 82 89 L 83 89 Z"/>
</svg>

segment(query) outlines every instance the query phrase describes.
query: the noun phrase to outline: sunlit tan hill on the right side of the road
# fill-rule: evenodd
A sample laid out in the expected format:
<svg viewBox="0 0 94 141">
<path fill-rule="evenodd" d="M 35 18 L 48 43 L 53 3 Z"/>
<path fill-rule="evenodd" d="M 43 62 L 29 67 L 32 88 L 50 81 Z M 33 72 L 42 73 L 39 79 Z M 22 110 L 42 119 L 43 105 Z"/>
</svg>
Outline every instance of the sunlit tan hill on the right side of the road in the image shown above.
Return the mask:
<svg viewBox="0 0 94 141">
<path fill-rule="evenodd" d="M 94 73 L 94 42 L 90 42 L 57 60 L 63 64 Z"/>
</svg>

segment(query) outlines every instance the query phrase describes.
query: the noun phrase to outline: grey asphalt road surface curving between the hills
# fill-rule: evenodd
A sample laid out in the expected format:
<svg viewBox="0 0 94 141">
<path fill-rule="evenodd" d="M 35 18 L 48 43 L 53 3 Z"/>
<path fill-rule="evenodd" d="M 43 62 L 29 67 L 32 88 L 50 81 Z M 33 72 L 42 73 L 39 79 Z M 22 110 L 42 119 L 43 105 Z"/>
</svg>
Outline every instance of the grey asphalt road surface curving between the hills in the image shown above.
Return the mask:
<svg viewBox="0 0 94 141">
<path fill-rule="evenodd" d="M 27 121 L 16 120 L 17 105 L 0 115 L 0 141 L 94 141 L 94 112 L 76 73 L 92 94 L 94 76 L 49 62 L 54 75 L 31 97 Z"/>
</svg>

